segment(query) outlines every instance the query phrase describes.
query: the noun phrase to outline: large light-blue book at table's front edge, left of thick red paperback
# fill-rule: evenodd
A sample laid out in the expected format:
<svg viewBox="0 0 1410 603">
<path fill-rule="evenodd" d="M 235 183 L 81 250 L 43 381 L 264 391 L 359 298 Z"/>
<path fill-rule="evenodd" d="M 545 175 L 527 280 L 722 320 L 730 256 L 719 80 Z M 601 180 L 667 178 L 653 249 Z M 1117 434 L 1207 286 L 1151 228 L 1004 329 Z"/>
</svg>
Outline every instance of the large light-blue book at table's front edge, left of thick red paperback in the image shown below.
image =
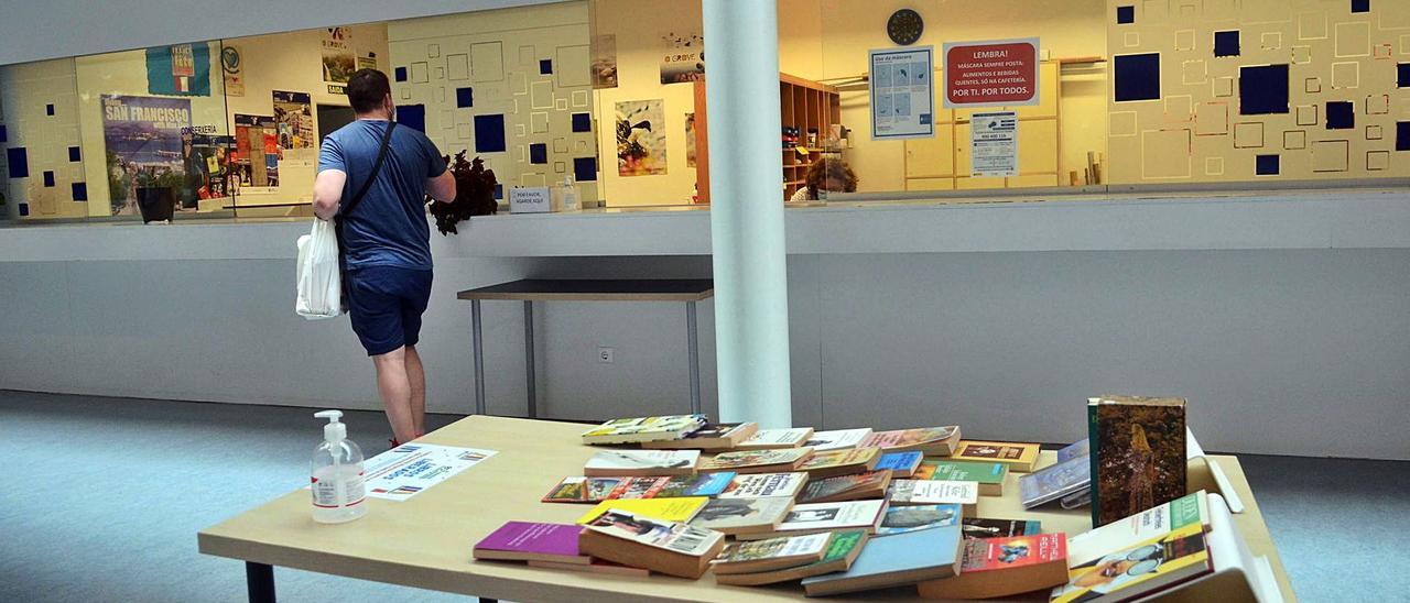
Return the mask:
<svg viewBox="0 0 1410 603">
<path fill-rule="evenodd" d="M 960 571 L 960 526 L 871 538 L 846 572 L 805 578 L 809 597 L 914 585 Z"/>
</svg>

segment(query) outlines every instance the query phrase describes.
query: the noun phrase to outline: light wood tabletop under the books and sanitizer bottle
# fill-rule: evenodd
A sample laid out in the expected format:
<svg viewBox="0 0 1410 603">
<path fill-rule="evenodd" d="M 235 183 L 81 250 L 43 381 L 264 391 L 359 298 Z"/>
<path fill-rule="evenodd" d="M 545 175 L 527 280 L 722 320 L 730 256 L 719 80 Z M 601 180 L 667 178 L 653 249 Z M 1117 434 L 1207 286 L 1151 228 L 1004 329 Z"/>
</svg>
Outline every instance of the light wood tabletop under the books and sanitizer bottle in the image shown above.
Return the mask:
<svg viewBox="0 0 1410 603">
<path fill-rule="evenodd" d="M 477 562 L 471 548 L 505 521 L 572 523 L 588 507 L 540 503 L 558 480 L 581 475 L 596 451 L 578 444 L 580 424 L 526 418 L 471 416 L 419 440 L 427 444 L 499 451 L 465 472 L 395 503 L 368 499 L 368 514 L 347 524 L 323 526 L 310 517 L 309 492 L 299 489 L 197 534 L 200 552 L 245 561 L 251 600 L 272 600 L 272 566 L 389 582 L 423 589 L 516 602 L 680 600 L 783 602 L 801 600 L 797 583 L 771 588 L 716 586 L 711 575 L 699 580 L 670 576 L 625 578 L 516 564 Z M 1258 502 L 1234 456 L 1218 462 L 1246 506 L 1234 516 L 1238 531 L 1255 555 L 1266 555 L 1287 602 L 1294 602 L 1283 562 L 1273 548 Z M 1041 465 L 1055 462 L 1043 452 Z M 1191 464 L 1191 483 L 1210 480 L 1207 469 Z M 1210 486 L 1213 487 L 1213 486 Z M 1004 496 L 983 496 L 980 517 L 1036 518 L 1043 531 L 1083 533 L 1091 523 L 1081 511 L 1024 511 L 1018 476 L 1010 475 Z M 262 599 L 268 595 L 269 599 Z M 859 593 L 866 600 L 905 600 L 914 588 Z M 847 599 L 847 597 L 842 597 Z"/>
</svg>

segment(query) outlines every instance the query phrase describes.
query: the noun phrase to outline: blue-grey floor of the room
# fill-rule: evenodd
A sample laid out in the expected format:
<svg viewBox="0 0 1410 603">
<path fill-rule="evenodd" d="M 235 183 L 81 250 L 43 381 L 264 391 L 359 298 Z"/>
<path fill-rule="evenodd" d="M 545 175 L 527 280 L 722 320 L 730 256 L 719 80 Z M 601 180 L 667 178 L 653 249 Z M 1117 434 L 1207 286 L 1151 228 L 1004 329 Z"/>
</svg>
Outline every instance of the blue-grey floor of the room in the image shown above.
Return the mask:
<svg viewBox="0 0 1410 603">
<path fill-rule="evenodd" d="M 243 564 L 199 555 L 196 531 L 307 480 L 321 434 L 312 413 L 0 390 L 0 600 L 244 600 Z M 369 456 L 386 448 L 381 413 L 347 423 Z M 1410 462 L 1241 461 L 1301 600 L 1410 600 Z M 288 602 L 467 600 L 275 576 Z"/>
</svg>

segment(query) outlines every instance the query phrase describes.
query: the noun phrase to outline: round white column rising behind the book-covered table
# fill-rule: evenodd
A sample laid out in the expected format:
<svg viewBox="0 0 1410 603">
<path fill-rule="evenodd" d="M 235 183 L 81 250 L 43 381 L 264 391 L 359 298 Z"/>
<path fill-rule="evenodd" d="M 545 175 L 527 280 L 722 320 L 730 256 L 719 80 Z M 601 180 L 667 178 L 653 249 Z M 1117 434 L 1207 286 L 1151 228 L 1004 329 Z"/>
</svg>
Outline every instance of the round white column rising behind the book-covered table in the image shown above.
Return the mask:
<svg viewBox="0 0 1410 603">
<path fill-rule="evenodd" d="M 774 0 L 704 0 L 719 420 L 792 425 Z"/>
</svg>

